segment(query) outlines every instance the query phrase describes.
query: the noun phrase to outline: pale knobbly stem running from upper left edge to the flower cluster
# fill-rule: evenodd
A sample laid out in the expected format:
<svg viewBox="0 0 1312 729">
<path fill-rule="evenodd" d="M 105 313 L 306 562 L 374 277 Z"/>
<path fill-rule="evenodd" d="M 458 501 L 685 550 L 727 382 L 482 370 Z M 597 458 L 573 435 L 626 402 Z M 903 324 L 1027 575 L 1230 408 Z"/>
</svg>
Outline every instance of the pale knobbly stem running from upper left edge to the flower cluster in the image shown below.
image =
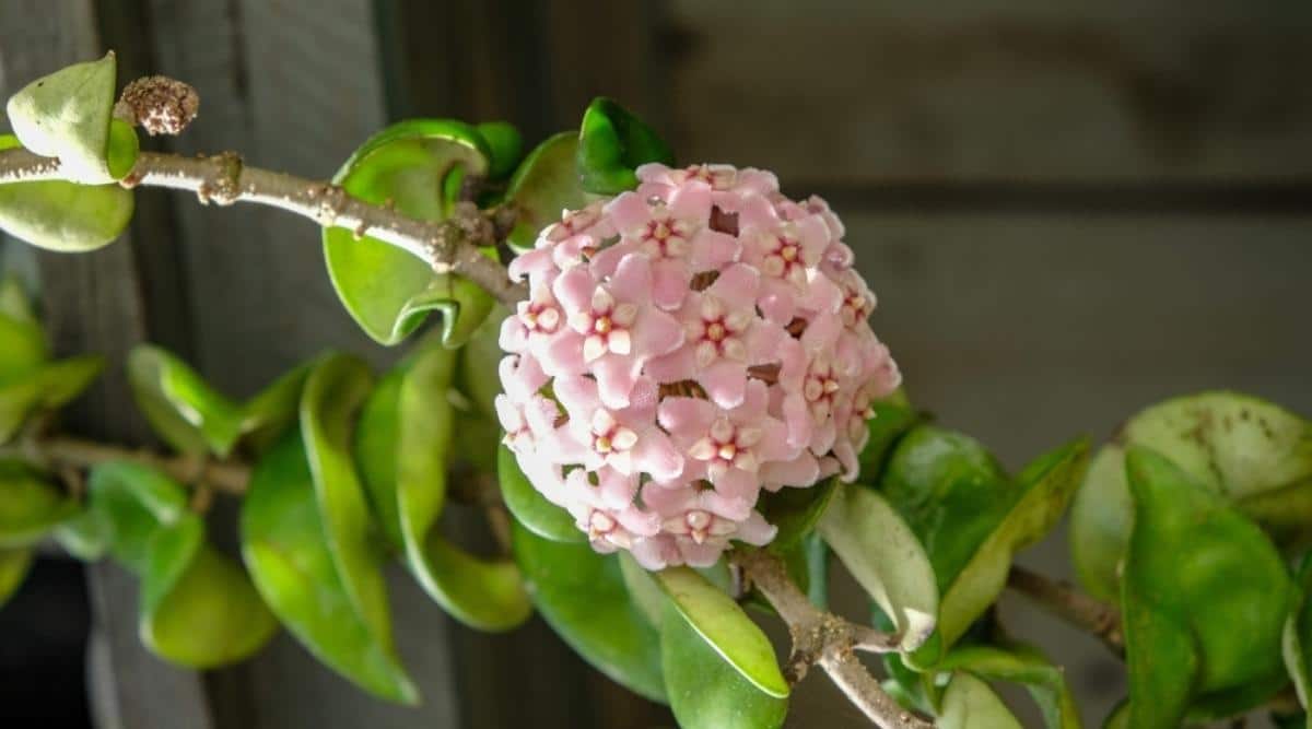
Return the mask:
<svg viewBox="0 0 1312 729">
<path fill-rule="evenodd" d="M 35 180 L 62 180 L 59 160 L 20 148 L 0 152 L 0 184 Z M 251 202 L 277 207 L 324 227 L 348 228 L 357 236 L 390 243 L 436 270 L 453 270 L 468 278 L 505 304 L 527 296 L 501 264 L 479 252 L 480 246 L 499 241 L 497 226 L 478 211 L 462 208 L 457 218 L 443 222 L 417 220 L 390 206 L 361 202 L 337 185 L 245 167 L 232 152 L 197 157 L 142 152 L 122 184 L 190 190 L 202 203 Z"/>
</svg>

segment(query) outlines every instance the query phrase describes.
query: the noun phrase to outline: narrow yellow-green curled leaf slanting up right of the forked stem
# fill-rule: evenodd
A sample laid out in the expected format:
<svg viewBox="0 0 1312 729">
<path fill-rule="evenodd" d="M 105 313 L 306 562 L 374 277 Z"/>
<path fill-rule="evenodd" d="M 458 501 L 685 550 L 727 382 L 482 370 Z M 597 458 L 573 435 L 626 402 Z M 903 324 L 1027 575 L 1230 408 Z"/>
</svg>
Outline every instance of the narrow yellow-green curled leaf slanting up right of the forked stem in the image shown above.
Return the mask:
<svg viewBox="0 0 1312 729">
<path fill-rule="evenodd" d="M 947 645 L 997 601 L 1006 586 L 1013 556 L 1038 543 L 1061 521 L 1088 458 L 1089 444 L 1075 441 L 1039 456 L 1017 476 L 1019 500 L 943 593 L 939 631 Z"/>
</svg>

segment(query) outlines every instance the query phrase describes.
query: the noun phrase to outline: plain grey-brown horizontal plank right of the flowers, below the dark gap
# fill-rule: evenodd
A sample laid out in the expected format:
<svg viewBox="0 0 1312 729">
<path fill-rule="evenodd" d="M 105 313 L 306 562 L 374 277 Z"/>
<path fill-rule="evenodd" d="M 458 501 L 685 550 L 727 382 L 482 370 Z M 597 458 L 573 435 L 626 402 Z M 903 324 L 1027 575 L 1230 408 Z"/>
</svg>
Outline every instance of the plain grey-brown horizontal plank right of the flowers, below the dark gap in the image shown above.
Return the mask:
<svg viewBox="0 0 1312 729">
<path fill-rule="evenodd" d="M 1208 387 L 1312 413 L 1312 216 L 844 220 L 914 401 L 1012 464 Z"/>
</svg>

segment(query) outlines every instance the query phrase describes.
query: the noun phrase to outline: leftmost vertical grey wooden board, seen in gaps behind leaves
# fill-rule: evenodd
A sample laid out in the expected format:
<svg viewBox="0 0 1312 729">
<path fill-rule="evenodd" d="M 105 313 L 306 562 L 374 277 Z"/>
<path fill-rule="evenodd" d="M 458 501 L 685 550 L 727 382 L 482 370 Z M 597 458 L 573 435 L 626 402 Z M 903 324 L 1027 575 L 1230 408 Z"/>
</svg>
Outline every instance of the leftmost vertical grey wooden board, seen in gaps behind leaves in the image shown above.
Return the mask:
<svg viewBox="0 0 1312 729">
<path fill-rule="evenodd" d="M 101 52 L 89 1 L 0 4 L 0 60 L 8 92 Z M 41 254 L 45 319 L 59 354 L 100 353 L 117 364 L 133 344 L 144 338 L 148 321 L 133 236 L 126 237 L 93 254 Z M 122 371 L 112 364 L 108 376 L 72 408 L 70 422 L 89 435 L 142 441 L 147 431 L 133 413 Z M 93 629 L 106 658 L 93 669 L 112 674 L 109 680 L 104 673 L 92 679 L 93 686 L 109 687 L 93 692 L 98 724 L 134 729 L 210 726 L 197 675 L 161 662 L 140 645 L 135 580 L 117 566 L 94 565 L 91 595 Z"/>
</svg>

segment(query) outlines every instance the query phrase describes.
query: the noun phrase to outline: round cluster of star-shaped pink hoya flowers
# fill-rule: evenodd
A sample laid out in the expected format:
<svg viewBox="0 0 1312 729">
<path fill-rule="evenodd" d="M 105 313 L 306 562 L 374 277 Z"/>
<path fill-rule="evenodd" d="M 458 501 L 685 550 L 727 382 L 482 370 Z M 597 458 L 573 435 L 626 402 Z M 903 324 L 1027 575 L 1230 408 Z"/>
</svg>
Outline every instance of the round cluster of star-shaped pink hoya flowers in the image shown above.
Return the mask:
<svg viewBox="0 0 1312 729">
<path fill-rule="evenodd" d="M 727 165 L 638 177 L 510 265 L 531 295 L 501 328 L 497 412 L 597 551 L 706 566 L 774 538 L 762 488 L 854 479 L 900 378 L 824 201 Z"/>
</svg>

